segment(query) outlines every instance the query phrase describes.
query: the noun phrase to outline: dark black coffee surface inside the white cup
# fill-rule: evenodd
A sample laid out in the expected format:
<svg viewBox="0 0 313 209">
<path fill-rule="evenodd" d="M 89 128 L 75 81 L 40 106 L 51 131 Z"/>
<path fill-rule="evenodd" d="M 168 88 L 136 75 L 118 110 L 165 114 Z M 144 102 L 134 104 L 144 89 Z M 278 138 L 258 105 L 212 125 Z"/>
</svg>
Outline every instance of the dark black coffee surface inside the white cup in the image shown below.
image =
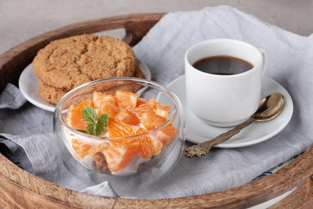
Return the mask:
<svg viewBox="0 0 313 209">
<path fill-rule="evenodd" d="M 224 55 L 201 58 L 192 66 L 203 72 L 221 75 L 238 74 L 253 68 L 253 64 L 248 61 Z"/>
</svg>

